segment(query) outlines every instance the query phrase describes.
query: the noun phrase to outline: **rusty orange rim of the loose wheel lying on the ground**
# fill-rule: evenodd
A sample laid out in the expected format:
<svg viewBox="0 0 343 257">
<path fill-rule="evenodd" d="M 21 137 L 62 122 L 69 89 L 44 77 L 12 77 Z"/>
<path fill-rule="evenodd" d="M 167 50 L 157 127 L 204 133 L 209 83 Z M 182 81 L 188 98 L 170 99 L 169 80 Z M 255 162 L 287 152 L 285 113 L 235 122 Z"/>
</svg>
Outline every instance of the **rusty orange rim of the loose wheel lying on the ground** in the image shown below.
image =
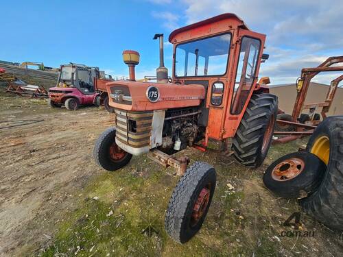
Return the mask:
<svg viewBox="0 0 343 257">
<path fill-rule="evenodd" d="M 305 168 L 305 162 L 299 158 L 290 158 L 280 162 L 272 170 L 272 178 L 277 181 L 287 181 L 296 178 Z"/>
</svg>

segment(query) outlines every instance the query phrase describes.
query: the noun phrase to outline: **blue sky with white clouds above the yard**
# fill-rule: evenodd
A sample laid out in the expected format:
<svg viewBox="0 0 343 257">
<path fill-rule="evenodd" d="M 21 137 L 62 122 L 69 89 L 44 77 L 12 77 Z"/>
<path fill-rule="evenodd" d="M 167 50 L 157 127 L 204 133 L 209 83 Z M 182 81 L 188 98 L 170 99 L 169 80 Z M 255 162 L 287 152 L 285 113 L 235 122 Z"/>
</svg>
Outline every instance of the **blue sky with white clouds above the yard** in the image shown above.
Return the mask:
<svg viewBox="0 0 343 257">
<path fill-rule="evenodd" d="M 127 76 L 121 53 L 139 51 L 137 78 L 155 75 L 158 42 L 165 34 L 165 66 L 171 74 L 172 47 L 167 38 L 176 28 L 225 12 L 267 35 L 259 77 L 272 84 L 294 83 L 305 67 L 329 56 L 343 56 L 342 0 L 17 0 L 1 1 L 0 60 L 43 62 L 58 67 L 69 62 L 99 66 Z M 337 73 L 319 75 L 329 84 Z"/>
</svg>

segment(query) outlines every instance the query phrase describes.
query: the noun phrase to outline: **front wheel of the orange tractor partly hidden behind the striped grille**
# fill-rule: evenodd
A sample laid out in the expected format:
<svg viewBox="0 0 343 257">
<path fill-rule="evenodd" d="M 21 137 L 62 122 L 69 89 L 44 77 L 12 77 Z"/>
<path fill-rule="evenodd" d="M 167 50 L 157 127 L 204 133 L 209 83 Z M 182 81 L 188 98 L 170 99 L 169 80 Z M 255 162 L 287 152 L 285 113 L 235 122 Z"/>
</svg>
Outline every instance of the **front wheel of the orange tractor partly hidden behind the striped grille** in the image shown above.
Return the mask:
<svg viewBox="0 0 343 257">
<path fill-rule="evenodd" d="M 107 171 L 116 171 L 130 162 L 132 155 L 115 143 L 115 127 L 102 132 L 95 143 L 93 156 L 97 164 Z"/>
</svg>

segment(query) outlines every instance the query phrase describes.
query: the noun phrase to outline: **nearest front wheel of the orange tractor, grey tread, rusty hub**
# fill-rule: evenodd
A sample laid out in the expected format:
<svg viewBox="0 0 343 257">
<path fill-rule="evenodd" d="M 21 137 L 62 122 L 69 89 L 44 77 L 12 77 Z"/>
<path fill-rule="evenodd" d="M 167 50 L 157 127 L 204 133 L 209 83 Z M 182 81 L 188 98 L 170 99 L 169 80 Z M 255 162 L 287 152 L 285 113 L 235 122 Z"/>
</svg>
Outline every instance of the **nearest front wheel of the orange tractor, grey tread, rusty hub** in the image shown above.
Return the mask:
<svg viewBox="0 0 343 257">
<path fill-rule="evenodd" d="M 180 178 L 165 214 L 165 230 L 176 242 L 186 243 L 200 230 L 215 182 L 215 169 L 206 162 L 195 162 Z"/>
</svg>

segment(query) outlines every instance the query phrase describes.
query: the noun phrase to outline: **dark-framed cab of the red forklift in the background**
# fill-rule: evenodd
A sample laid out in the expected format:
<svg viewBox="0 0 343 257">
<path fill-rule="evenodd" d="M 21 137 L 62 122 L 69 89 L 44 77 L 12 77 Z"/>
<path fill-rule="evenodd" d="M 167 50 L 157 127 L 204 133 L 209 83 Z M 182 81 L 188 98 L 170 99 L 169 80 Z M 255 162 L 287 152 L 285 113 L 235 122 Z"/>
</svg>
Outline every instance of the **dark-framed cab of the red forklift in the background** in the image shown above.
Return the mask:
<svg viewBox="0 0 343 257">
<path fill-rule="evenodd" d="M 94 94 L 94 80 L 97 77 L 99 77 L 97 67 L 73 63 L 61 65 L 57 86 L 78 88 L 83 94 Z"/>
</svg>

